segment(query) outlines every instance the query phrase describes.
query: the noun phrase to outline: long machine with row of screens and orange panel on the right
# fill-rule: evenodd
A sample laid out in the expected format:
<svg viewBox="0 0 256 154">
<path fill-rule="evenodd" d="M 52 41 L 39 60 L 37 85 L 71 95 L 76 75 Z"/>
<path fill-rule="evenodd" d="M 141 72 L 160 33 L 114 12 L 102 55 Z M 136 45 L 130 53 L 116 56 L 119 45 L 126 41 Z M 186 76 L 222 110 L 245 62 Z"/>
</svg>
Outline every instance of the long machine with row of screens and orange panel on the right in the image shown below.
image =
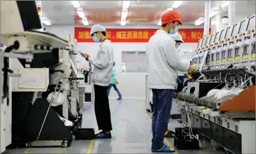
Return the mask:
<svg viewBox="0 0 256 154">
<path fill-rule="evenodd" d="M 183 123 L 209 138 L 214 147 L 219 145 L 231 153 L 256 152 L 255 56 L 252 56 L 255 23 L 250 18 L 215 33 L 217 43 L 212 45 L 210 40 L 209 52 L 210 61 L 215 63 L 210 64 L 210 69 L 197 71 L 192 75 L 194 82 L 184 82 L 183 89 L 176 92 Z M 220 38 L 216 38 L 218 34 Z M 245 45 L 250 50 L 236 52 Z M 236 57 L 241 57 L 239 63 Z M 207 64 L 207 58 L 202 60 L 201 66 Z"/>
</svg>

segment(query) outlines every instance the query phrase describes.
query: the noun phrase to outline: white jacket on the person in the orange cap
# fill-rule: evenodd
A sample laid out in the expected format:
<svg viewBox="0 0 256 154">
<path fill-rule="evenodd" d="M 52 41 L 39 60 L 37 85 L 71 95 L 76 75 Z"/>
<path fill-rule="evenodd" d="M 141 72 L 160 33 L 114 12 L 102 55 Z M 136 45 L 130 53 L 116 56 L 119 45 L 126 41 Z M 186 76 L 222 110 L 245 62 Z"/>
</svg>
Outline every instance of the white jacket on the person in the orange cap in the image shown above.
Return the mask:
<svg viewBox="0 0 256 154">
<path fill-rule="evenodd" d="M 185 72 L 189 67 L 178 55 L 173 38 L 162 29 L 157 30 L 147 44 L 149 88 L 175 90 L 176 70 Z"/>
</svg>

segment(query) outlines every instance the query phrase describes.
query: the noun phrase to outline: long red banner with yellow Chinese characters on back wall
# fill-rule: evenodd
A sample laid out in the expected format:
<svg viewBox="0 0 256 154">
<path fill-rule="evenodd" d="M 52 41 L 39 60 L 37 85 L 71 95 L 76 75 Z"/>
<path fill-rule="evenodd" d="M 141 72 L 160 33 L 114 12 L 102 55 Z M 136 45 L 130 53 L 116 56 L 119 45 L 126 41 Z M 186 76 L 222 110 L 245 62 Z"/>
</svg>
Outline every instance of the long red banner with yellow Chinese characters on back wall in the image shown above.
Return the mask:
<svg viewBox="0 0 256 154">
<path fill-rule="evenodd" d="M 89 37 L 91 28 L 75 27 L 75 39 L 78 42 L 94 42 Z M 107 28 L 107 39 L 112 42 L 148 42 L 157 29 L 112 29 Z M 204 36 L 203 28 L 179 29 L 178 33 L 183 37 L 184 42 L 197 43 Z"/>
</svg>

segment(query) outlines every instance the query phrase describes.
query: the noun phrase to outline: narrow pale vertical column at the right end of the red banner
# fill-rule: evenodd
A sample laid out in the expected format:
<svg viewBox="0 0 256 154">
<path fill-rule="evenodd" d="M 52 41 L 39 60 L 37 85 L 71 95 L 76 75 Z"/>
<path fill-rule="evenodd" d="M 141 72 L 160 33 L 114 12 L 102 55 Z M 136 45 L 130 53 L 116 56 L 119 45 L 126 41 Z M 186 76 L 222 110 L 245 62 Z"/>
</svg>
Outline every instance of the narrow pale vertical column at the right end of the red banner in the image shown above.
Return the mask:
<svg viewBox="0 0 256 154">
<path fill-rule="evenodd" d="M 209 35 L 210 29 L 210 8 L 211 2 L 205 1 L 205 13 L 204 13 L 204 37 Z"/>
</svg>

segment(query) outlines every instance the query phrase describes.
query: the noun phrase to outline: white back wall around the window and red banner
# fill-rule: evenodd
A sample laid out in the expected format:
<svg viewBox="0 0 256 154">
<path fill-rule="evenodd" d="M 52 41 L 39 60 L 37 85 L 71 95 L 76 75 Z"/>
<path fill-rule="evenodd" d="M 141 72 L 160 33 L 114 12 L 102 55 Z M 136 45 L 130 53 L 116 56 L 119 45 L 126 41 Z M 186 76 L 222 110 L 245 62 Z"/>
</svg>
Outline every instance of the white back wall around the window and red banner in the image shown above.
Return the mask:
<svg viewBox="0 0 256 154">
<path fill-rule="evenodd" d="M 57 36 L 64 37 L 64 31 L 69 31 L 72 36 L 74 36 L 74 26 L 47 26 L 47 31 L 54 33 Z M 108 26 L 106 28 L 120 28 L 118 26 Z M 122 27 L 123 28 L 123 27 Z M 134 27 L 125 27 L 134 28 Z M 138 27 L 136 27 L 138 28 Z M 159 28 L 158 26 L 148 26 L 143 28 Z M 183 26 L 181 28 L 189 28 L 188 26 Z M 190 27 L 191 28 L 191 27 Z M 202 27 L 192 27 L 192 28 L 202 28 Z M 146 95 L 146 74 L 144 73 L 121 73 L 121 63 L 122 63 L 122 51 L 126 52 L 139 52 L 146 51 L 147 43 L 112 43 L 114 48 L 114 60 L 116 61 L 117 69 L 117 79 L 118 88 L 121 91 L 123 98 L 145 98 Z M 188 49 L 191 48 L 195 50 L 197 43 L 184 43 L 180 48 Z M 88 53 L 91 56 L 95 56 L 99 49 L 99 44 L 97 43 L 78 43 L 77 50 Z M 117 98 L 118 95 L 112 88 L 110 92 L 110 98 Z"/>
</svg>

